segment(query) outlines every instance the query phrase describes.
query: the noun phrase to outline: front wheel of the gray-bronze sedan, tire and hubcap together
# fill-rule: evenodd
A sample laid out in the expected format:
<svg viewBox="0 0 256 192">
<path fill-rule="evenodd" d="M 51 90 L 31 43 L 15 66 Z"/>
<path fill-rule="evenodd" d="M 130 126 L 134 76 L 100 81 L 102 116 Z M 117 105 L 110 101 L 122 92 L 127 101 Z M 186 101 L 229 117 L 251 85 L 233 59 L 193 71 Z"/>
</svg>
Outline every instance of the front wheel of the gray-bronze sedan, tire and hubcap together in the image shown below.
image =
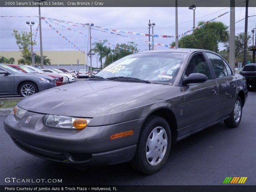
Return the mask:
<svg viewBox="0 0 256 192">
<path fill-rule="evenodd" d="M 149 116 L 143 124 L 135 156 L 130 162 L 138 172 L 152 174 L 164 166 L 171 149 L 171 129 L 160 116 Z"/>
</svg>

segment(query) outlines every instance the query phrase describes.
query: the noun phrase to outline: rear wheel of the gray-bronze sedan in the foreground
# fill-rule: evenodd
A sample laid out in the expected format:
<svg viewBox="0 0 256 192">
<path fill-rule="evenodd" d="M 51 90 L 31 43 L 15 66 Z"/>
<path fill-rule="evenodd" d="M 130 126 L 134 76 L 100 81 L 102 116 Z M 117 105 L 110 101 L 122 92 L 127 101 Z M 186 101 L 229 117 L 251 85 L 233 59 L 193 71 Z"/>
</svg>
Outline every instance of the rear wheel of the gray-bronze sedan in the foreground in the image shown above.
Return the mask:
<svg viewBox="0 0 256 192">
<path fill-rule="evenodd" d="M 242 101 L 239 96 L 236 98 L 233 111 L 230 114 L 230 117 L 224 120 L 224 123 L 227 127 L 235 128 L 237 127 L 242 118 Z"/>
</svg>

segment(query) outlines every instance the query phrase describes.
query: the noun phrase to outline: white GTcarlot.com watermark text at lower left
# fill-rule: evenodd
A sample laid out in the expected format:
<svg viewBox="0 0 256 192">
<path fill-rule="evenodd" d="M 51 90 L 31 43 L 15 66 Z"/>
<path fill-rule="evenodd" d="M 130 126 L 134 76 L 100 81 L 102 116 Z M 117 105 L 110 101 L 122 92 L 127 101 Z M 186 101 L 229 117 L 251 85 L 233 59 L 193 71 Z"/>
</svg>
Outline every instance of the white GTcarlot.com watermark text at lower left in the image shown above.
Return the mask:
<svg viewBox="0 0 256 192">
<path fill-rule="evenodd" d="M 6 177 L 5 183 L 62 183 L 62 179 L 20 179 L 16 177 Z"/>
</svg>

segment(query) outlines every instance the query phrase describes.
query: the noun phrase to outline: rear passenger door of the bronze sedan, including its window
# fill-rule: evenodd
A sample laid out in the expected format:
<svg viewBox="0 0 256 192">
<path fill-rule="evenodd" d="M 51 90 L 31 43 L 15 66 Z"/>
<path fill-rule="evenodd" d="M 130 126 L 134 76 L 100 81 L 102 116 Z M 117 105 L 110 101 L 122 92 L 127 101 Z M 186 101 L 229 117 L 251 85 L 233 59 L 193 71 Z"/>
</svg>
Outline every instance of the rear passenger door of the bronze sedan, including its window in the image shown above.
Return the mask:
<svg viewBox="0 0 256 192">
<path fill-rule="evenodd" d="M 228 63 L 219 55 L 212 52 L 205 52 L 205 54 L 212 64 L 218 84 L 219 102 L 217 119 L 221 119 L 228 116 L 233 110 L 237 89 L 236 77 Z"/>
</svg>

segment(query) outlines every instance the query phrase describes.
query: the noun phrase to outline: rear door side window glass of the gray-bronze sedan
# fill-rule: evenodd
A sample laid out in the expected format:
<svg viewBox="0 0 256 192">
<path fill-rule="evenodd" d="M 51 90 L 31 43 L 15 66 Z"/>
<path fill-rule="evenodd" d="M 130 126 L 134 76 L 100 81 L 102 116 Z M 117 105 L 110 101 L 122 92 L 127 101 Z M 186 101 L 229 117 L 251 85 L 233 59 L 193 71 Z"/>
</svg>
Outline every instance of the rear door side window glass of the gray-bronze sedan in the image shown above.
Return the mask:
<svg viewBox="0 0 256 192">
<path fill-rule="evenodd" d="M 212 62 L 212 66 L 214 68 L 214 73 L 216 75 L 216 78 L 221 78 L 221 77 L 229 76 L 232 74 L 228 64 L 225 63 L 221 59 L 221 57 L 212 53 L 207 53 L 207 52 L 205 54 Z"/>
</svg>

